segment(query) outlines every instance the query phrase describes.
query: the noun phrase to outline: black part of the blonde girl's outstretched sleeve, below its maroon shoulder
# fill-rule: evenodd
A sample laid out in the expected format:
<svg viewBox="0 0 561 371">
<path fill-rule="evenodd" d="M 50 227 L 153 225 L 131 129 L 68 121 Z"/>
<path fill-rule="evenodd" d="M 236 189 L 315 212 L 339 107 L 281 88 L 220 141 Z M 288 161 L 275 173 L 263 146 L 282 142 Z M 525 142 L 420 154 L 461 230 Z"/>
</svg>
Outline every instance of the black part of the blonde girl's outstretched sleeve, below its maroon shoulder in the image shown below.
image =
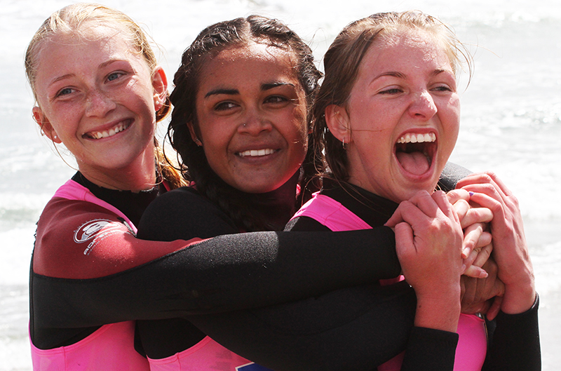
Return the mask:
<svg viewBox="0 0 561 371">
<path fill-rule="evenodd" d="M 386 227 L 255 232 L 218 236 L 102 278 L 33 274 L 42 303 L 35 325 L 82 328 L 290 302 L 397 276 L 394 246 Z"/>
</svg>

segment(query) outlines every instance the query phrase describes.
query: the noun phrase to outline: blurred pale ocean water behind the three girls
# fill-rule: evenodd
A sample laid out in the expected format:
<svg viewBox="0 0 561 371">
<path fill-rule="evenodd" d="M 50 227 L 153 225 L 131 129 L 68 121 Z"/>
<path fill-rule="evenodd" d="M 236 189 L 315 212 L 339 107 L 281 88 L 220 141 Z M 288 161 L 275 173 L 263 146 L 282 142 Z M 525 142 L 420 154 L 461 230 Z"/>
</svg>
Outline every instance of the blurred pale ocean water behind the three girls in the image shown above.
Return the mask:
<svg viewBox="0 0 561 371">
<path fill-rule="evenodd" d="M 0 0 L 0 371 L 31 370 L 29 258 L 35 223 L 72 176 L 32 121 L 23 55 L 50 13 L 71 1 Z M 159 0 L 100 1 L 130 15 L 158 43 L 171 80 L 203 27 L 252 13 L 280 18 L 311 44 L 318 66 L 342 27 L 380 11 L 419 9 L 457 32 L 475 58 L 462 90 L 451 160 L 494 170 L 520 201 L 541 297 L 543 370 L 561 364 L 561 3 L 557 0 Z M 461 81 L 466 86 L 467 74 Z M 165 124 L 162 125 L 165 126 Z M 163 130 L 161 130 L 163 133 Z M 557 144 L 556 144 L 557 143 Z M 555 366 L 557 365 L 557 366 Z"/>
</svg>

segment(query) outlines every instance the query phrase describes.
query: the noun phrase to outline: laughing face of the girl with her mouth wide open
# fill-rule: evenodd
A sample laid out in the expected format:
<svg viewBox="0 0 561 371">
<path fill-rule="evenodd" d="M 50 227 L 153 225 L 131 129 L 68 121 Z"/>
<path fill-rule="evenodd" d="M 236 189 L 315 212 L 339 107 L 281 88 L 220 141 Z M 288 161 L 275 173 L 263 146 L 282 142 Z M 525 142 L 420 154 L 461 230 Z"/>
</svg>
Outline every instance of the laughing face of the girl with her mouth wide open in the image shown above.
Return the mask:
<svg viewBox="0 0 561 371">
<path fill-rule="evenodd" d="M 400 202 L 432 192 L 457 140 L 460 104 L 450 60 L 426 32 L 372 43 L 330 131 L 346 143 L 349 182 Z"/>
</svg>

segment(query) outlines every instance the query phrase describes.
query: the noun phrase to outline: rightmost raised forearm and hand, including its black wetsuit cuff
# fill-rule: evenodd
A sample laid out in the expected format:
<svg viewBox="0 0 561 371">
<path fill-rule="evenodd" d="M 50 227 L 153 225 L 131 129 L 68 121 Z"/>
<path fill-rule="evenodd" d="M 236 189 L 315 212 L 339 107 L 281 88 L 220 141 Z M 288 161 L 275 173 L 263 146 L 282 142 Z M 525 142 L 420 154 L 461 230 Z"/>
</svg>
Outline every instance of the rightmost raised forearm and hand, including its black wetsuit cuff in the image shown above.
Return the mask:
<svg viewBox="0 0 561 371">
<path fill-rule="evenodd" d="M 458 186 L 494 214 L 493 256 L 505 285 L 484 369 L 541 370 L 538 300 L 518 201 L 493 173 L 472 175 Z"/>
</svg>

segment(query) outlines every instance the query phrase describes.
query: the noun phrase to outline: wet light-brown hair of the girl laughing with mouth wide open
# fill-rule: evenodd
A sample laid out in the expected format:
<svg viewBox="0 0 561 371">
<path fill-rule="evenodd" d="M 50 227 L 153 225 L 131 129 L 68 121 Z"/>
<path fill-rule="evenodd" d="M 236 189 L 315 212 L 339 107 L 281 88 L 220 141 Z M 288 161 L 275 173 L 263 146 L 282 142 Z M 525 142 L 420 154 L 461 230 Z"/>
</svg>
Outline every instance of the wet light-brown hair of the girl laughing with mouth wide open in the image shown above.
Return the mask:
<svg viewBox="0 0 561 371">
<path fill-rule="evenodd" d="M 323 59 L 325 79 L 313 106 L 313 144 L 316 156 L 325 158 L 322 173 L 339 182 L 349 180 L 348 158 L 342 143 L 330 133 L 325 109 L 330 104 L 344 106 L 354 86 L 360 64 L 374 41 L 399 32 L 421 30 L 440 42 L 454 74 L 465 62 L 471 77 L 471 55 L 456 35 L 440 20 L 419 11 L 377 13 L 356 20 L 337 35 Z"/>
</svg>

